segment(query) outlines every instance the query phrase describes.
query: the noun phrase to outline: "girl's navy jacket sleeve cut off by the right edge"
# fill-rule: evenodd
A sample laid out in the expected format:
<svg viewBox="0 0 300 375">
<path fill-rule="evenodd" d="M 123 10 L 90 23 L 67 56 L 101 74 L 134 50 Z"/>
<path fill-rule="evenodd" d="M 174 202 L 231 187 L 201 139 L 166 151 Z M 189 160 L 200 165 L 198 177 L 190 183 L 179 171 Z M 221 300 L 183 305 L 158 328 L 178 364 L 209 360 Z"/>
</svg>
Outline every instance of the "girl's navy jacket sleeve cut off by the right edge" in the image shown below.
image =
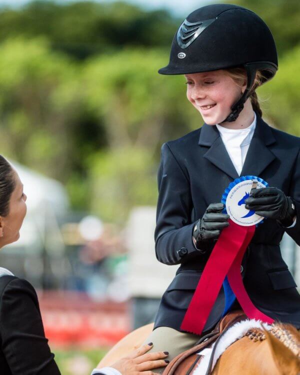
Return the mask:
<svg viewBox="0 0 300 375">
<path fill-rule="evenodd" d="M 289 196 L 293 199 L 296 208 L 296 223 L 291 228 L 284 228 L 286 233 L 300 246 L 300 151 L 294 165 Z"/>
</svg>

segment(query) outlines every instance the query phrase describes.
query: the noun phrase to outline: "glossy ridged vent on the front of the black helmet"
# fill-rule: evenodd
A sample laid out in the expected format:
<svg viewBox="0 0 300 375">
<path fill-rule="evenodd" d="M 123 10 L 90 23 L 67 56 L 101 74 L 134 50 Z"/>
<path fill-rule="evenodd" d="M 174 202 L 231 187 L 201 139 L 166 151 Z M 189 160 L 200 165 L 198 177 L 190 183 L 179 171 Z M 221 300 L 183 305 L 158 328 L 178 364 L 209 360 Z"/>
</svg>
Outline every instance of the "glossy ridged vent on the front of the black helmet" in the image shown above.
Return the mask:
<svg viewBox="0 0 300 375">
<path fill-rule="evenodd" d="M 184 19 L 177 31 L 177 43 L 179 47 L 188 47 L 189 44 L 191 44 L 200 35 L 200 33 L 215 20 L 216 18 L 211 18 L 205 19 L 204 21 L 188 22 L 186 19 Z"/>
</svg>

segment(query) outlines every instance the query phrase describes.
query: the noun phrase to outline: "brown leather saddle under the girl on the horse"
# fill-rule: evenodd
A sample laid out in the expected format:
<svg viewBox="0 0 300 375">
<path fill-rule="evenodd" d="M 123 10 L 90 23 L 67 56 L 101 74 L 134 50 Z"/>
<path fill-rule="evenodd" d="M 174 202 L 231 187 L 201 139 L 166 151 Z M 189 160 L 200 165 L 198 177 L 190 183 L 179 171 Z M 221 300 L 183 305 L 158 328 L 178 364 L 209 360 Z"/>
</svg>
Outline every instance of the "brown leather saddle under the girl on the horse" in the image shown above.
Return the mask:
<svg viewBox="0 0 300 375">
<path fill-rule="evenodd" d="M 216 324 L 215 328 L 200 337 L 196 342 L 195 346 L 191 347 L 188 350 L 183 351 L 173 358 L 170 363 L 164 368 L 162 375 L 192 375 L 194 369 L 197 367 L 201 356 L 196 354 L 200 350 L 210 347 L 213 342 L 216 342 L 219 337 L 233 324 L 238 321 L 247 319 L 247 316 L 242 310 L 234 310 L 228 312 L 219 322 Z M 214 346 L 214 348 L 216 345 Z M 212 358 L 213 352 L 211 355 L 211 360 L 208 365 L 206 375 L 211 374 Z"/>
</svg>

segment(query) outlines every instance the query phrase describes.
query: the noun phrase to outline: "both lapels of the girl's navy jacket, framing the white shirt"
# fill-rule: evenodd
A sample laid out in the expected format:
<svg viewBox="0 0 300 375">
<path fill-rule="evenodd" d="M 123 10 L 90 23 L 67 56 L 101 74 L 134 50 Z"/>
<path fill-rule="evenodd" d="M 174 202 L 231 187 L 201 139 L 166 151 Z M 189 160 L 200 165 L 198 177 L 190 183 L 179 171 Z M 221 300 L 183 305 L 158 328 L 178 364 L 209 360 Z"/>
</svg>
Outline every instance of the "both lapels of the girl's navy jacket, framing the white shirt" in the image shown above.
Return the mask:
<svg viewBox="0 0 300 375">
<path fill-rule="evenodd" d="M 259 176 L 276 158 L 267 147 L 275 142 L 271 128 L 257 113 L 256 118 L 255 131 L 240 173 L 241 176 Z M 203 124 L 198 144 L 209 147 L 203 157 L 228 174 L 231 178 L 235 179 L 239 177 L 215 125 Z"/>
</svg>

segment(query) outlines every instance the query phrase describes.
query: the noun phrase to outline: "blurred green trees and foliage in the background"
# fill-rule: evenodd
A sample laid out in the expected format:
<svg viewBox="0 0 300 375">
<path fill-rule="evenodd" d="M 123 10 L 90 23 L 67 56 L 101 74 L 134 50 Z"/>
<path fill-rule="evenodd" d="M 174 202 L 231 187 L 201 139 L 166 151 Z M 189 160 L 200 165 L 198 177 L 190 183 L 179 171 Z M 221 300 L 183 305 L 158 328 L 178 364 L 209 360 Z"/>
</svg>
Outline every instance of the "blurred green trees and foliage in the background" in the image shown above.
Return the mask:
<svg viewBox="0 0 300 375">
<path fill-rule="evenodd" d="M 281 53 L 275 78 L 258 89 L 263 114 L 300 135 L 300 2 L 238 3 L 265 19 Z M 1 153 L 59 179 L 73 208 L 104 220 L 155 205 L 161 144 L 202 124 L 184 78 L 157 74 L 179 21 L 88 1 L 0 13 Z"/>
</svg>

